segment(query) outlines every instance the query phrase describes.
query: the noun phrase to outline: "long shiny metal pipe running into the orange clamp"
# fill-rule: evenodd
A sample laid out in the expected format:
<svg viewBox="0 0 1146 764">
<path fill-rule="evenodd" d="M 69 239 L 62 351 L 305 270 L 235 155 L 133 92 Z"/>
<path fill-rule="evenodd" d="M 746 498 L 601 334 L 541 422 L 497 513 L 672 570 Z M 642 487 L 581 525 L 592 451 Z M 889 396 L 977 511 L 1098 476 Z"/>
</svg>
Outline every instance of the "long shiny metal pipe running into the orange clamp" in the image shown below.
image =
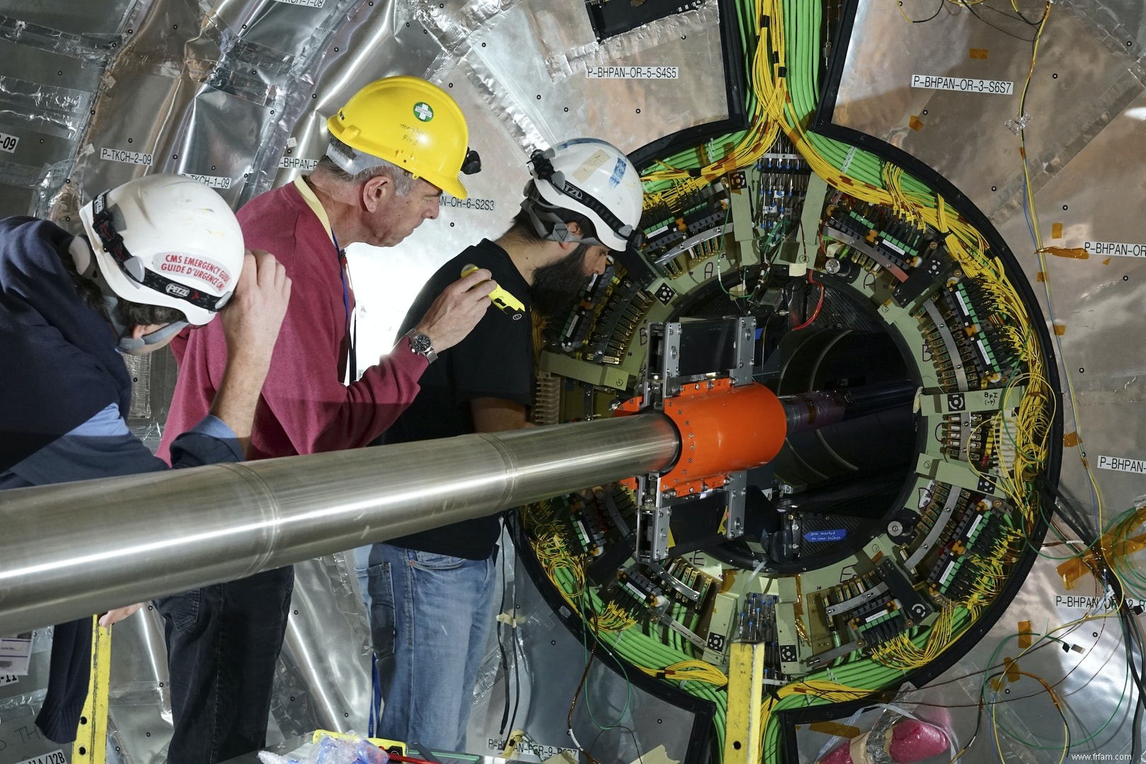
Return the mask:
<svg viewBox="0 0 1146 764">
<path fill-rule="evenodd" d="M 659 472 L 641 415 L 0 491 L 0 636 Z"/>
</svg>

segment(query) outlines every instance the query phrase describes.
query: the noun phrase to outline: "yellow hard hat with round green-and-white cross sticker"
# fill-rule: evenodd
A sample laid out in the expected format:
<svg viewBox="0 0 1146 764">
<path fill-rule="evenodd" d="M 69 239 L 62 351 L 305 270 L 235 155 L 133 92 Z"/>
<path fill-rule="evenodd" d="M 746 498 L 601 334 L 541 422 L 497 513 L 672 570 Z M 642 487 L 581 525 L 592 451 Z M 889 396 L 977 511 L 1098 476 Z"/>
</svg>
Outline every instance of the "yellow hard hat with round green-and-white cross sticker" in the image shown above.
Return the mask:
<svg viewBox="0 0 1146 764">
<path fill-rule="evenodd" d="M 351 96 L 327 120 L 331 136 L 464 199 L 458 173 L 476 172 L 465 116 L 444 89 L 418 77 L 386 77 Z M 346 170 L 346 167 L 344 167 Z"/>
</svg>

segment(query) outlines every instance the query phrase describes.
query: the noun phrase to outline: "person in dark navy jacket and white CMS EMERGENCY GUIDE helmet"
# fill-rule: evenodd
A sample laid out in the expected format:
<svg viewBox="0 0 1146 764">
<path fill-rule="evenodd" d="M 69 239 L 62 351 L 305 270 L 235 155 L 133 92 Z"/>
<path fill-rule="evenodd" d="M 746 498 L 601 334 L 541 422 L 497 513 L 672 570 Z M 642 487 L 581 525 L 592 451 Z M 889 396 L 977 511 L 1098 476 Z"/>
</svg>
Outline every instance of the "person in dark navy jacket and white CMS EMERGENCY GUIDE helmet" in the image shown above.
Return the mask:
<svg viewBox="0 0 1146 764">
<path fill-rule="evenodd" d="M 187 178 L 129 181 L 80 218 L 80 236 L 34 218 L 0 220 L 0 490 L 166 470 L 127 427 L 132 381 L 120 354 L 150 353 L 215 315 L 226 378 L 211 412 L 175 440 L 172 466 L 242 460 L 290 299 L 285 270 L 246 251 L 226 202 Z M 36 723 L 56 742 L 76 739 L 91 630 L 91 620 L 55 628 Z"/>
</svg>

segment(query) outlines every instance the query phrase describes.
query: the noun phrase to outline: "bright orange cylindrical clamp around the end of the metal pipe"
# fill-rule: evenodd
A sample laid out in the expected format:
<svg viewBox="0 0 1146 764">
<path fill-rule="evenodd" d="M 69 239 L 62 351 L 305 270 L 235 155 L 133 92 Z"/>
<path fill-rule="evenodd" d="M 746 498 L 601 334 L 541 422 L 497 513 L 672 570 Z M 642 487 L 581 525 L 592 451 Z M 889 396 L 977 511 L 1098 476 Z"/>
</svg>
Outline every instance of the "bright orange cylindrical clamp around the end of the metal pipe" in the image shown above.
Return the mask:
<svg viewBox="0 0 1146 764">
<path fill-rule="evenodd" d="M 626 401 L 617 413 L 634 413 L 638 405 L 639 399 Z M 685 385 L 665 399 L 664 413 L 681 434 L 681 456 L 661 476 L 661 488 L 767 464 L 787 434 L 779 399 L 756 383 L 733 387 L 724 378 Z"/>
</svg>

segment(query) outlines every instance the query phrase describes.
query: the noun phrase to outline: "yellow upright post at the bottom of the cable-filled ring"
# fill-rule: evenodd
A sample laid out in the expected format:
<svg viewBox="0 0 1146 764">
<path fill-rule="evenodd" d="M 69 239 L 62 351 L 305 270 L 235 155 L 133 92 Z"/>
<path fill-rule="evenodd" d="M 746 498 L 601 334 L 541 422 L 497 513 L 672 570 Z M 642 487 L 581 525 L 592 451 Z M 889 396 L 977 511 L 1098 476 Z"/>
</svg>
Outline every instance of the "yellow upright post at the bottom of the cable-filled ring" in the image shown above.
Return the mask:
<svg viewBox="0 0 1146 764">
<path fill-rule="evenodd" d="M 728 714 L 724 717 L 724 764 L 760 764 L 764 728 L 763 643 L 732 643 L 728 659 Z"/>
</svg>

